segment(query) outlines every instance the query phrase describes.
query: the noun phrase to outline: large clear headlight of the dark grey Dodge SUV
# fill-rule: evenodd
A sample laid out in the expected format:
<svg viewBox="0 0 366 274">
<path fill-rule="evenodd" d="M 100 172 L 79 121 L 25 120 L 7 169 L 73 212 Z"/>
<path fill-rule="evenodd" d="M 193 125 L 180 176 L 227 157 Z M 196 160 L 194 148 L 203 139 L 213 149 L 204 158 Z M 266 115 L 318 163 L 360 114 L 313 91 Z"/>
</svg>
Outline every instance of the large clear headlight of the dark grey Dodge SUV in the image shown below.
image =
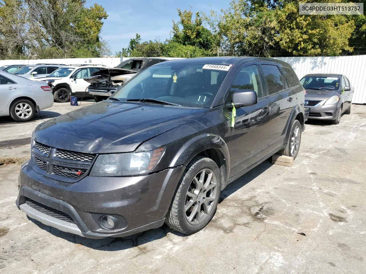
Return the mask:
<svg viewBox="0 0 366 274">
<path fill-rule="evenodd" d="M 164 149 L 161 146 L 150 151 L 99 155 L 90 176 L 114 177 L 149 173 L 160 160 Z"/>
</svg>

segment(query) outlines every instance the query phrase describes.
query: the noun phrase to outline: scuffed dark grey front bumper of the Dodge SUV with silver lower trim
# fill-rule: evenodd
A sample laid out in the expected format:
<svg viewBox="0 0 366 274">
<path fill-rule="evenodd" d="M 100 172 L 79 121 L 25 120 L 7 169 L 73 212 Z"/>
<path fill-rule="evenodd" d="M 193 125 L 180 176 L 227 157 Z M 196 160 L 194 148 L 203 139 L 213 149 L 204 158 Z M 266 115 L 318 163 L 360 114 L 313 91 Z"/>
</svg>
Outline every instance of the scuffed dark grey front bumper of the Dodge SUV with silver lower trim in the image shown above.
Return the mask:
<svg viewBox="0 0 366 274">
<path fill-rule="evenodd" d="M 86 176 L 76 183 L 59 182 L 22 166 L 16 205 L 45 225 L 79 236 L 123 237 L 163 225 L 185 167 L 131 177 Z M 102 216 L 117 220 L 115 229 Z"/>
</svg>

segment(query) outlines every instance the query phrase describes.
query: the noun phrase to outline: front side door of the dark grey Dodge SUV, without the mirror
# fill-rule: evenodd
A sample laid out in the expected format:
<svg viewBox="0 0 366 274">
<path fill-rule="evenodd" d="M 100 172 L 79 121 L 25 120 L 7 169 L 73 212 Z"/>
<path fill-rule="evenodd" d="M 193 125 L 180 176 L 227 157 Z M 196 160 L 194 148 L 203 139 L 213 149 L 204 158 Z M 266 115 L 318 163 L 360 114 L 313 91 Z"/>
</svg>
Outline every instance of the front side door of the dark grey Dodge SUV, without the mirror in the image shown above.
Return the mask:
<svg viewBox="0 0 366 274">
<path fill-rule="evenodd" d="M 230 177 L 260 160 L 268 144 L 270 130 L 270 102 L 256 63 L 244 64 L 232 81 L 231 92 L 254 90 L 258 103 L 236 109 L 234 127 L 231 128 Z"/>
</svg>

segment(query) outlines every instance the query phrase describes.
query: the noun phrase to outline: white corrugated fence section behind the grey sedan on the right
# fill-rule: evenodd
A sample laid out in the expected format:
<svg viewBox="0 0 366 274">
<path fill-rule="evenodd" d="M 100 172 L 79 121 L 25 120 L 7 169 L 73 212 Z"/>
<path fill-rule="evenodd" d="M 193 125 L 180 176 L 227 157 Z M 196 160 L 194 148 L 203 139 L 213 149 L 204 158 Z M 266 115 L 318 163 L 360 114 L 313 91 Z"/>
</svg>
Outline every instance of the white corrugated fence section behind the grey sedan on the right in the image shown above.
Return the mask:
<svg viewBox="0 0 366 274">
<path fill-rule="evenodd" d="M 341 57 L 277 57 L 288 62 L 299 79 L 309 73 L 344 74 L 355 88 L 352 103 L 366 103 L 366 55 Z"/>
</svg>

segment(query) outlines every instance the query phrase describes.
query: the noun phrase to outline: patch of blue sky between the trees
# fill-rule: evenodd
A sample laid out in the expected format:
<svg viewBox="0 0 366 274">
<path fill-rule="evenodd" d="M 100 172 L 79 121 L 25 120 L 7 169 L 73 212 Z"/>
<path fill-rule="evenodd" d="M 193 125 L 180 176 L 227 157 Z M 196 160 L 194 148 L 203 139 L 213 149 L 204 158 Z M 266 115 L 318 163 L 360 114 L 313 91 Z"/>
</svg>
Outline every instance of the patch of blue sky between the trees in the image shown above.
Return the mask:
<svg viewBox="0 0 366 274">
<path fill-rule="evenodd" d="M 127 47 L 136 33 L 143 41 L 156 38 L 165 41 L 170 37 L 172 20 L 179 20 L 177 8 L 184 10 L 191 6 L 193 12 L 209 14 L 211 9 L 227 9 L 230 0 L 87 0 L 86 5 L 89 7 L 94 3 L 102 5 L 109 15 L 104 20 L 101 37 L 108 42 L 114 54 Z"/>
</svg>

